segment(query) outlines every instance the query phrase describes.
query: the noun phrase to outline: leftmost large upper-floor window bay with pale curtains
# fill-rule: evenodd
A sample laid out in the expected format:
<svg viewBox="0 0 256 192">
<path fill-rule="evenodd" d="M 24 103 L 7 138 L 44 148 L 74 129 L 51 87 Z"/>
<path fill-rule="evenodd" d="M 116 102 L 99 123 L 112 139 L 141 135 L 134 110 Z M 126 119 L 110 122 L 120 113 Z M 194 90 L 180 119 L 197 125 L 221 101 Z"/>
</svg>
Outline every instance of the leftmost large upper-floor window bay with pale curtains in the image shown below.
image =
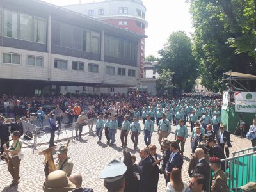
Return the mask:
<svg viewBox="0 0 256 192">
<path fill-rule="evenodd" d="M 2 26 L 3 36 L 45 44 L 45 19 L 0 8 Z"/>
</svg>

